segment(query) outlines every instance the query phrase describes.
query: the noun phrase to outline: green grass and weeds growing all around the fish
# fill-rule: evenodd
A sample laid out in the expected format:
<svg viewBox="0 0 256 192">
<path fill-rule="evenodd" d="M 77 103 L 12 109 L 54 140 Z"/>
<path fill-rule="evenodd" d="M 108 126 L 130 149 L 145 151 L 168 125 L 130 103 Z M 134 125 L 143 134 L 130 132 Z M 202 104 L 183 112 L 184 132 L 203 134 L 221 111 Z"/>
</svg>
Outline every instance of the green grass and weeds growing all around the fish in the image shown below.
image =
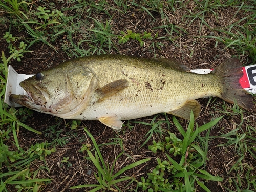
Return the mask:
<svg viewBox="0 0 256 192">
<path fill-rule="evenodd" d="M 193 118 L 187 124 L 180 123 L 175 117 L 170 121 L 170 116 L 166 114 L 155 115 L 148 122 L 129 121 L 123 135 L 134 131 L 134 127 L 139 124 L 147 127 L 148 131 L 137 148 L 146 147 L 150 153 L 152 151 L 151 156 L 155 158 L 152 158 L 151 162 L 156 165 L 147 167 L 147 164 L 148 169 L 143 170 L 143 176 L 134 177 L 124 174 L 139 165 L 143 166 L 149 159 L 143 158 L 114 172 L 115 164 L 120 158 L 126 155 L 133 159 L 131 154 L 125 151 L 125 139 L 118 138 L 120 133 L 116 134 L 117 138 L 112 138 L 113 142 L 96 143 L 87 129 L 84 129 L 86 133 L 83 136 L 76 135 L 77 130 L 84 127 L 82 122 L 63 123 L 56 118 L 56 124 L 46 127 L 43 133 L 51 141 L 36 141 L 23 148 L 19 138 L 20 129 L 27 129 L 35 134 L 42 133 L 26 125 L 26 120 L 32 117 L 30 110 L 9 108 L 3 103 L 8 63 L 12 64 L 15 60 L 22 62 L 33 46 L 49 46 L 53 51 L 57 51 L 56 45 L 61 45 L 58 48 L 70 57 L 123 54 L 126 53 L 124 50 L 129 50 L 127 53 L 138 52 L 139 55 L 146 52 L 155 57 L 164 56 L 166 53 L 178 54 L 178 58 L 185 59 L 186 54 L 189 58 L 193 57 L 193 49 L 197 49 L 194 45 L 200 47 L 212 42 L 216 49 L 227 51 L 231 56 L 243 59 L 244 63 L 255 63 L 255 1 L 151 0 L 136 3 L 123 0 L 73 0 L 65 4 L 65 7 L 44 1 L 32 3 L 17 0 L 4 0 L 0 3 L 0 8 L 7 15 L 0 18 L 0 22 L 9 26 L 1 35 L 9 47 L 8 52 L 2 52 L 0 63 L 0 192 L 10 188 L 16 188 L 17 191 L 44 190 L 45 184 L 51 182 L 50 178 L 42 178 L 40 175 L 40 172 L 50 170 L 46 158 L 53 156 L 56 148 L 69 144 L 72 138 L 76 138 L 81 144 L 79 153 L 91 162 L 97 172 L 94 174 L 95 184 L 76 185 L 71 189 L 87 190 L 87 187 L 90 187 L 91 191 L 121 191 L 123 188 L 120 188 L 120 185 L 124 182 L 126 186 L 123 187 L 133 187 L 130 189 L 133 191 L 194 191 L 199 190 L 199 187 L 210 191 L 206 185 L 207 181 L 211 180 L 218 181 L 227 191 L 256 190 L 256 170 L 251 164 L 256 161 L 256 130 L 250 118 L 254 114 L 242 110 L 236 104 L 231 107 L 225 102 L 216 104 L 216 99 L 210 98 L 207 111 L 209 110 L 208 115 L 212 117 L 212 121 L 201 126 L 198 126 Z M 229 15 L 226 14 L 227 10 Z M 139 21 L 136 15 L 142 17 L 139 18 L 141 23 L 135 27 Z M 136 23 L 118 23 L 118 19 L 127 17 L 130 20 L 137 19 Z M 143 28 L 144 20 L 152 27 Z M 17 31 L 15 36 L 11 31 Z M 22 31 L 26 35 L 20 35 L 19 32 Z M 183 49 L 187 42 L 193 47 L 189 52 Z M 136 50 L 129 47 L 133 44 L 138 45 Z M 211 47 L 209 50 L 215 48 Z M 225 117 L 221 119 L 223 114 Z M 175 133 L 170 131 L 174 126 Z M 129 130 L 126 131 L 126 127 Z M 212 136 L 213 129 L 219 129 L 219 133 Z M 87 136 L 93 145 L 89 144 Z M 207 151 L 212 147 L 211 142 L 219 141 L 218 139 L 222 143 L 214 147 L 234 157 L 232 163 L 226 163 L 225 180 L 207 172 L 207 163 L 211 158 Z M 103 158 L 102 147 L 105 146 L 121 148 L 112 164 Z M 40 160 L 44 165 L 35 166 Z M 60 162 L 61 168 L 68 169 L 72 166 L 68 155 L 63 156 Z"/>
</svg>

